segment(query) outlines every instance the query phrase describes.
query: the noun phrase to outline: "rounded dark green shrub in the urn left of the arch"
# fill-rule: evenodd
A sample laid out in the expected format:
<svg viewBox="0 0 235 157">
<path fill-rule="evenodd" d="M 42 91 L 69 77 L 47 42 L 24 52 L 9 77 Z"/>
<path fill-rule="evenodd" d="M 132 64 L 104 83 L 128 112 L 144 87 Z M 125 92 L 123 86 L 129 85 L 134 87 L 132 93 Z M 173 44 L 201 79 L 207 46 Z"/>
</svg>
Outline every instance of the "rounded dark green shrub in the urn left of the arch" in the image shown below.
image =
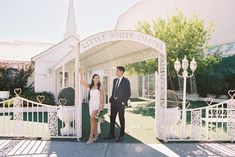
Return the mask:
<svg viewBox="0 0 235 157">
<path fill-rule="evenodd" d="M 66 99 L 67 103 L 64 104 L 65 106 L 74 106 L 75 90 L 71 87 L 62 89 L 58 95 L 58 100 L 59 99 Z"/>
</svg>

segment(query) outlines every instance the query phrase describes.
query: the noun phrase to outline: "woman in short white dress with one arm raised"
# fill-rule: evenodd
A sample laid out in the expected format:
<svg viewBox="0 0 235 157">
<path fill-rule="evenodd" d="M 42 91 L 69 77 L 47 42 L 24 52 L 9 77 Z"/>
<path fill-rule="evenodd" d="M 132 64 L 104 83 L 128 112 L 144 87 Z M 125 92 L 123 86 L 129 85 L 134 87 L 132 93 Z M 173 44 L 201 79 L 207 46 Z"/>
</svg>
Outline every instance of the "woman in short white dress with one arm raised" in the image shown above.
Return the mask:
<svg viewBox="0 0 235 157">
<path fill-rule="evenodd" d="M 98 74 L 92 76 L 91 84 L 88 84 L 83 79 L 83 74 L 80 70 L 81 84 L 89 90 L 89 112 L 90 112 L 90 136 L 87 144 L 91 144 L 98 138 L 96 114 L 104 110 L 104 90 L 101 87 L 100 77 Z"/>
</svg>

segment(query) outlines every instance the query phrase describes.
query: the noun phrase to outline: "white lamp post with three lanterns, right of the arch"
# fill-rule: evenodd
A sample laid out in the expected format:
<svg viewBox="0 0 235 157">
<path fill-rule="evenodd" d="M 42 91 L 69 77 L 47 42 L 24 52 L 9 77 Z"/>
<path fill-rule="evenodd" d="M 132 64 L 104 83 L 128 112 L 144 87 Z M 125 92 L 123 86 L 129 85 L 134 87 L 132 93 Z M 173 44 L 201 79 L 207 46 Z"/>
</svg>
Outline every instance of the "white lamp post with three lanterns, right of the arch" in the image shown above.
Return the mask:
<svg viewBox="0 0 235 157">
<path fill-rule="evenodd" d="M 186 58 L 186 56 L 184 56 L 184 59 L 182 60 L 182 69 L 183 69 L 183 72 L 182 74 L 180 75 L 179 74 L 179 71 L 181 69 L 181 64 L 180 64 L 180 61 L 178 60 L 178 58 L 176 59 L 175 61 L 175 64 L 174 64 L 174 68 L 177 72 L 177 75 L 179 77 L 182 77 L 184 79 L 184 86 L 183 86 L 183 104 L 182 104 L 182 137 L 186 137 L 186 79 L 187 78 L 190 78 L 193 76 L 194 74 L 194 71 L 197 69 L 197 62 L 193 60 L 190 62 L 190 69 L 192 71 L 192 74 L 189 75 L 188 74 L 188 60 Z"/>
</svg>

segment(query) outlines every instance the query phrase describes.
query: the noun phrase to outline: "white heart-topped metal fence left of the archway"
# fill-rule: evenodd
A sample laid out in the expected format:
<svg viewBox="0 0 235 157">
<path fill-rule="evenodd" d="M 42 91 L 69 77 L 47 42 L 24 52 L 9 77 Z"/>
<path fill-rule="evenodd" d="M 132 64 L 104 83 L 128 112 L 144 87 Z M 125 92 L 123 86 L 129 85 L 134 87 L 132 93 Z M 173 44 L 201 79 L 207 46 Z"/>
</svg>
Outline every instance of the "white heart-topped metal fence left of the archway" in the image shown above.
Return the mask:
<svg viewBox="0 0 235 157">
<path fill-rule="evenodd" d="M 78 108 L 50 106 L 16 97 L 0 102 L 0 136 L 78 139 Z M 62 119 L 62 121 L 61 121 Z"/>
</svg>

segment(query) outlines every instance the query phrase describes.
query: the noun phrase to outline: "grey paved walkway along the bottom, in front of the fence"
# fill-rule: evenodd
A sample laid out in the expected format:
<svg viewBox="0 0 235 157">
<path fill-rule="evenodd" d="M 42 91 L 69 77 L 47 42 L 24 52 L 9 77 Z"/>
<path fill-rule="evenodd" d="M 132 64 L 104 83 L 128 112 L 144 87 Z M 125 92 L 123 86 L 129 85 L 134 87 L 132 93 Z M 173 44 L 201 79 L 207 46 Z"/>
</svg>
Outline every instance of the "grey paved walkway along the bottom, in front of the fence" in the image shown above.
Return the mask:
<svg viewBox="0 0 235 157">
<path fill-rule="evenodd" d="M 232 143 L 93 143 L 0 139 L 0 156 L 161 157 L 235 156 Z"/>
</svg>

